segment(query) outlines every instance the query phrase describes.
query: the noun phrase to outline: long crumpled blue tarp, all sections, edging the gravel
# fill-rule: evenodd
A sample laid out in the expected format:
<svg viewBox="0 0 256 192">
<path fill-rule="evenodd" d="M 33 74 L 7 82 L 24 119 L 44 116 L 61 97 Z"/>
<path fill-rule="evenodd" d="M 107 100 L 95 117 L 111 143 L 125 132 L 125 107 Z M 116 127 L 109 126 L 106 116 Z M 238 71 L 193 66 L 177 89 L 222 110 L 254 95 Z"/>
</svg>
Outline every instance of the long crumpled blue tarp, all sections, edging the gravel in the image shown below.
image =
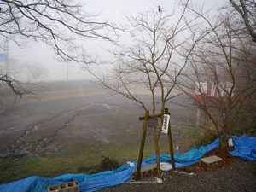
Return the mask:
<svg viewBox="0 0 256 192">
<path fill-rule="evenodd" d="M 256 138 L 255 137 L 233 137 L 236 152 L 234 155 L 240 156 L 245 160 L 256 160 Z M 184 166 L 193 165 L 201 160 L 201 157 L 207 152 L 214 148 L 218 148 L 219 140 L 215 140 L 212 144 L 199 149 L 191 149 L 185 154 L 175 154 L 176 160 L 175 165 L 177 168 Z M 233 155 L 233 154 L 232 154 Z M 155 156 L 149 157 L 143 162 L 142 166 L 148 166 L 155 164 Z M 171 163 L 170 155 L 160 155 L 160 162 Z M 121 183 L 129 181 L 132 177 L 133 172 L 137 169 L 137 163 L 134 162 L 135 166 L 129 166 L 126 164 L 119 167 L 116 171 L 107 171 L 96 173 L 94 175 L 85 174 L 67 174 L 55 178 L 44 178 L 44 177 L 28 177 L 26 179 L 0 185 L 1 192 L 46 192 L 47 187 L 59 183 L 66 183 L 69 181 L 76 180 L 79 182 L 80 191 L 95 191 L 100 189 L 107 189 Z"/>
</svg>

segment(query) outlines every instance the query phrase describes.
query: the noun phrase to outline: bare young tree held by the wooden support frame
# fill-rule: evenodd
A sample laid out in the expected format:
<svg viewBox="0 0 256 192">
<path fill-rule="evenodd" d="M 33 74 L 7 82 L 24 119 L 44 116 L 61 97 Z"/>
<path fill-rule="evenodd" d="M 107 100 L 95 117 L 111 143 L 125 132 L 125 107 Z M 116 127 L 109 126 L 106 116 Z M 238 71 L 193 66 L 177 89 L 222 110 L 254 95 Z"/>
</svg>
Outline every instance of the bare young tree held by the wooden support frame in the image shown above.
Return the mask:
<svg viewBox="0 0 256 192">
<path fill-rule="evenodd" d="M 159 178 L 159 139 L 166 102 L 172 99 L 172 90 L 177 78 L 186 66 L 195 44 L 205 35 L 205 32 L 191 31 L 195 27 L 196 16 L 185 20 L 186 6 L 177 5 L 175 9 L 181 12 L 166 15 L 155 9 L 128 18 L 131 36 L 125 38 L 126 44 L 119 44 L 118 50 L 113 50 L 117 61 L 113 62 L 112 73 L 101 76 L 90 69 L 108 90 L 137 102 L 152 115 L 161 114 L 160 125 L 154 127 L 154 148 Z M 188 23 L 191 28 L 188 27 Z M 182 50 L 185 59 L 177 54 Z M 172 83 L 170 79 L 173 80 Z M 137 93 L 140 90 L 149 92 L 149 105 Z"/>
</svg>

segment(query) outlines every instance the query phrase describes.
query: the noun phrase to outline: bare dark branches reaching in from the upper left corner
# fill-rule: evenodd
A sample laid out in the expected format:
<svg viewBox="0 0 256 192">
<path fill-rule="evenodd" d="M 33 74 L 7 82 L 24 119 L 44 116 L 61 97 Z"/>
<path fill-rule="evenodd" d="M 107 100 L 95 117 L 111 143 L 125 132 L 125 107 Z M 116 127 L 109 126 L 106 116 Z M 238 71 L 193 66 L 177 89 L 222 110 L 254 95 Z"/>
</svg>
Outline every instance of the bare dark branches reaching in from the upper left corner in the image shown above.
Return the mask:
<svg viewBox="0 0 256 192">
<path fill-rule="evenodd" d="M 111 32 L 112 36 L 108 36 Z M 114 34 L 114 35 L 113 35 Z M 0 48 L 5 39 L 18 46 L 29 40 L 42 41 L 54 49 L 61 61 L 94 62 L 79 42 L 86 39 L 114 41 L 116 28 L 109 22 L 96 21 L 85 12 L 82 3 L 73 0 L 1 0 Z M 78 45 L 80 44 L 80 45 Z M 10 85 L 15 79 L 2 73 L 0 81 Z M 12 87 L 11 88 L 15 88 Z M 17 90 L 21 94 L 19 90 Z M 26 93 L 26 91 L 24 92 Z"/>
</svg>

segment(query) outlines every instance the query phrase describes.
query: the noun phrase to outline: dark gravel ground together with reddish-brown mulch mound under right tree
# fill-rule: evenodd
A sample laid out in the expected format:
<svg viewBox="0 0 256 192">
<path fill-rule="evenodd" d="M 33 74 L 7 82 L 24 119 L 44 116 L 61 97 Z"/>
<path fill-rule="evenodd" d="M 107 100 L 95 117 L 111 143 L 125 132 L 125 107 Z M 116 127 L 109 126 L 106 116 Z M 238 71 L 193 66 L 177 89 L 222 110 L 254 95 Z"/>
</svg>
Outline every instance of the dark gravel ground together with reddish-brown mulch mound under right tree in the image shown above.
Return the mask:
<svg viewBox="0 0 256 192">
<path fill-rule="evenodd" d="M 228 152 L 234 148 L 216 148 L 207 153 L 205 157 L 217 155 L 222 161 L 212 165 L 202 162 L 192 166 L 183 167 L 176 171 L 163 173 L 163 183 L 155 182 L 156 172 L 148 172 L 140 181 L 131 181 L 121 184 L 108 192 L 141 192 L 141 191 L 216 191 L 216 192 L 256 192 L 256 162 L 244 161 L 233 157 Z M 193 172 L 193 174 L 188 173 Z"/>
</svg>

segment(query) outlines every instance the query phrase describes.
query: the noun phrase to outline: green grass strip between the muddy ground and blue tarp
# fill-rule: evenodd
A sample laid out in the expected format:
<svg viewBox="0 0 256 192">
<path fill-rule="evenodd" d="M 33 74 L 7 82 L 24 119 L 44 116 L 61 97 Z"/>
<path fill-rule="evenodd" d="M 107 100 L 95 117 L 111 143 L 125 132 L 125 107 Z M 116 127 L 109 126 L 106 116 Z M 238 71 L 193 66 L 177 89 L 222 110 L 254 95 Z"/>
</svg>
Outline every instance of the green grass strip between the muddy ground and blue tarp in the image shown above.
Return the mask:
<svg viewBox="0 0 256 192">
<path fill-rule="evenodd" d="M 172 130 L 183 131 L 184 137 L 186 135 L 194 137 L 197 134 L 195 129 L 189 128 L 173 127 Z M 113 140 L 115 142 L 88 141 L 84 144 L 69 144 L 69 153 L 61 154 L 62 156 L 2 160 L 0 162 L 0 183 L 9 183 L 32 176 L 57 177 L 67 173 L 100 172 L 102 171 L 100 169 L 102 157 L 117 160 L 119 165 L 124 165 L 127 161 L 137 161 L 141 131 L 124 132 Z M 176 142 L 173 146 L 175 148 Z M 186 150 L 189 148 L 190 146 L 187 146 Z M 167 137 L 160 138 L 160 154 L 170 154 Z M 154 140 L 149 134 L 146 137 L 143 160 L 152 155 L 154 155 Z"/>
</svg>

